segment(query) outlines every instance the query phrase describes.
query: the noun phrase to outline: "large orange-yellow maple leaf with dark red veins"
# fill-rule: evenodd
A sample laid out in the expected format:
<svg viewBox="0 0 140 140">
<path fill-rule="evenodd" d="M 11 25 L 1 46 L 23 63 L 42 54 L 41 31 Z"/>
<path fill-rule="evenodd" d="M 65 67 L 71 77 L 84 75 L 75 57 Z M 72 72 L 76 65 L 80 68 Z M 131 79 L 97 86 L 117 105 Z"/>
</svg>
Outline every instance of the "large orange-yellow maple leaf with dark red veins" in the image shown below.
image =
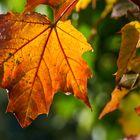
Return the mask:
<svg viewBox="0 0 140 140">
<path fill-rule="evenodd" d="M 57 91 L 69 92 L 89 107 L 90 70 L 81 58 L 91 50 L 69 21 L 51 23 L 46 16 L 0 16 L 0 87 L 9 90 L 8 112 L 20 125 L 48 114 Z"/>
</svg>

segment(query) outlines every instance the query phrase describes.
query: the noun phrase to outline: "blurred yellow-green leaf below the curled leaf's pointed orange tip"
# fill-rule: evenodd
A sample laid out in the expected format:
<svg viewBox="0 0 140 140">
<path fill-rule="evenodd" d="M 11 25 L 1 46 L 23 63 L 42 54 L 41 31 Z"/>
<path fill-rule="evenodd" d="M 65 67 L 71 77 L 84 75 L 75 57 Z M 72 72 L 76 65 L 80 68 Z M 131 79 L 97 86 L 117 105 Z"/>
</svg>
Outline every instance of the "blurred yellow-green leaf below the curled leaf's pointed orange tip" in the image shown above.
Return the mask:
<svg viewBox="0 0 140 140">
<path fill-rule="evenodd" d="M 140 105 L 140 95 L 132 92 L 120 104 L 122 116 L 119 120 L 126 136 L 140 134 L 140 117 L 134 108 Z"/>
</svg>

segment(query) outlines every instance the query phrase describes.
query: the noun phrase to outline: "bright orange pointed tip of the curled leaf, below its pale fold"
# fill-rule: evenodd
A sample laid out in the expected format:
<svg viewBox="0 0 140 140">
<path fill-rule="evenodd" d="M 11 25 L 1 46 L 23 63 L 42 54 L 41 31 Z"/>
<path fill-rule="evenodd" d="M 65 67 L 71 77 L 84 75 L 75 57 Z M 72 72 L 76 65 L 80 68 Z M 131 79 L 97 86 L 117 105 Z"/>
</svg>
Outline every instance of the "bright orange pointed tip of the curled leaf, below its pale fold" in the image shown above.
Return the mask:
<svg viewBox="0 0 140 140">
<path fill-rule="evenodd" d="M 101 119 L 104 115 L 106 115 L 109 112 L 112 112 L 116 110 L 119 107 L 121 99 L 128 93 L 129 90 L 126 88 L 115 88 L 112 92 L 112 97 L 109 103 L 105 106 L 103 111 L 101 112 L 99 119 Z"/>
</svg>

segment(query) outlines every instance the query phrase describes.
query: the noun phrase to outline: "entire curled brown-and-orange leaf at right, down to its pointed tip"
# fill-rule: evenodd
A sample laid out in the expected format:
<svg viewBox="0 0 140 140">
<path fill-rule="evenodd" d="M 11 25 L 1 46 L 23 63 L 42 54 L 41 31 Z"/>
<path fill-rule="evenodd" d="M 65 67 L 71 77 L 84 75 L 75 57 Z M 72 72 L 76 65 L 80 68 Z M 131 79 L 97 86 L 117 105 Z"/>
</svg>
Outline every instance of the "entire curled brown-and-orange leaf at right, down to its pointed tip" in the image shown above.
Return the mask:
<svg viewBox="0 0 140 140">
<path fill-rule="evenodd" d="M 140 86 L 140 58 L 136 56 L 140 37 L 140 23 L 137 21 L 131 22 L 125 25 L 121 32 L 122 43 L 117 61 L 117 85 L 112 92 L 111 100 L 107 103 L 99 118 L 117 109 L 124 96 L 132 89 Z"/>
</svg>

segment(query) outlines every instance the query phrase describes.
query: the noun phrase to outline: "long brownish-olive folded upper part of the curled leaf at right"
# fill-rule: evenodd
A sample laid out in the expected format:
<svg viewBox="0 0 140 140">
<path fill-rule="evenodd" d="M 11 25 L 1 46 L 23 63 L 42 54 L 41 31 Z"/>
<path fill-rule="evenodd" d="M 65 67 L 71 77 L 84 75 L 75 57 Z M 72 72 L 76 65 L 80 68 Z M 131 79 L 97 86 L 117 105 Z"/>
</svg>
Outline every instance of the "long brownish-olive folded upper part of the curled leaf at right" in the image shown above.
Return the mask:
<svg viewBox="0 0 140 140">
<path fill-rule="evenodd" d="M 136 53 L 137 44 L 140 37 L 140 23 L 137 21 L 126 24 L 122 30 L 122 43 L 117 61 L 118 71 L 116 81 L 118 82 L 122 75 L 128 71 L 130 60 L 133 59 Z M 134 38 L 135 36 L 135 38 Z"/>
</svg>

